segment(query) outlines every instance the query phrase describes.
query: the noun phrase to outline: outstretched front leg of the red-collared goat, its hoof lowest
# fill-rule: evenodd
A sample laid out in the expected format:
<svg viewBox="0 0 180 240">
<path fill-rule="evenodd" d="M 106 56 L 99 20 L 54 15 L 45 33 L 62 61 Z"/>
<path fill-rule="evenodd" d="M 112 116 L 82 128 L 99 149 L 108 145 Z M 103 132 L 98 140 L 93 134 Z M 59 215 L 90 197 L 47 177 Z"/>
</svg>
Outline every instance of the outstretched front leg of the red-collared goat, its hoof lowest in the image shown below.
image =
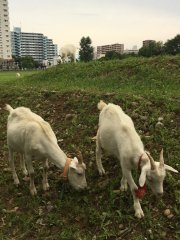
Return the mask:
<svg viewBox="0 0 180 240">
<path fill-rule="evenodd" d="M 137 198 L 136 195 L 135 195 L 135 190 L 137 190 L 138 187 L 134 182 L 134 179 L 132 177 L 132 173 L 131 173 L 131 171 L 129 171 L 127 169 L 124 169 L 123 170 L 123 176 L 127 179 L 127 182 L 129 184 L 129 187 L 130 187 L 132 195 L 133 195 L 135 216 L 137 218 L 142 218 L 142 217 L 144 217 L 144 212 L 141 208 L 139 198 Z"/>
</svg>

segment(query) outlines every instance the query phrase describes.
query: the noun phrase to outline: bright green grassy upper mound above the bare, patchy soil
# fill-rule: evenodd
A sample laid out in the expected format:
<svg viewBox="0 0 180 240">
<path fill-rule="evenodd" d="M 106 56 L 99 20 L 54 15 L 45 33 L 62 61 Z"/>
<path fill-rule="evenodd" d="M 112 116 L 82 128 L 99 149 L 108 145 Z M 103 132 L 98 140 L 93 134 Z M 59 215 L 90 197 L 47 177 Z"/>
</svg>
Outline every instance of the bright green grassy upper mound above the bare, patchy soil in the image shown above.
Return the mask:
<svg viewBox="0 0 180 240">
<path fill-rule="evenodd" d="M 26 73 L 23 72 L 24 76 Z M 60 91 L 113 91 L 143 95 L 174 96 L 180 78 L 180 57 L 128 58 L 117 61 L 64 64 L 36 71 L 33 75 L 14 80 L 20 88 L 40 88 Z M 9 79 L 0 73 L 1 84 L 12 87 Z"/>
</svg>

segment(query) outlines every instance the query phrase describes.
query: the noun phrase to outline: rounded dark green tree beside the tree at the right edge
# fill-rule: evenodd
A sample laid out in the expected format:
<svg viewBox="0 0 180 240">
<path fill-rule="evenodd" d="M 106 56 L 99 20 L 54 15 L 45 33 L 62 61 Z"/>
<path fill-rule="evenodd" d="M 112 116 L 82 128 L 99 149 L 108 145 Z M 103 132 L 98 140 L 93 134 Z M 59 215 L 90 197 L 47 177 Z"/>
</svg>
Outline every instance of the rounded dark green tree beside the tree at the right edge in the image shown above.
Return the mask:
<svg viewBox="0 0 180 240">
<path fill-rule="evenodd" d="M 162 42 L 150 42 L 147 46 L 139 49 L 139 55 L 143 57 L 157 56 L 163 53 Z"/>
</svg>

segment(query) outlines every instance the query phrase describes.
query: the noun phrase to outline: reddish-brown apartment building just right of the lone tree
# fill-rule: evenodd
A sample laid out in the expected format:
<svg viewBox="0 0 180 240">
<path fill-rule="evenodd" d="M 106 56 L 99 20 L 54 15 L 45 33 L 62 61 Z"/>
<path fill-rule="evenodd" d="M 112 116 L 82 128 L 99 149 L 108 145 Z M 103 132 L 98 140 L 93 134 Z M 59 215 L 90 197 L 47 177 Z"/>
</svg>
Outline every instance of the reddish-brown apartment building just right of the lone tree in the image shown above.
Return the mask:
<svg viewBox="0 0 180 240">
<path fill-rule="evenodd" d="M 115 43 L 110 45 L 97 46 L 97 58 L 104 56 L 107 52 L 110 51 L 115 51 L 122 54 L 124 52 L 124 44 Z"/>
</svg>

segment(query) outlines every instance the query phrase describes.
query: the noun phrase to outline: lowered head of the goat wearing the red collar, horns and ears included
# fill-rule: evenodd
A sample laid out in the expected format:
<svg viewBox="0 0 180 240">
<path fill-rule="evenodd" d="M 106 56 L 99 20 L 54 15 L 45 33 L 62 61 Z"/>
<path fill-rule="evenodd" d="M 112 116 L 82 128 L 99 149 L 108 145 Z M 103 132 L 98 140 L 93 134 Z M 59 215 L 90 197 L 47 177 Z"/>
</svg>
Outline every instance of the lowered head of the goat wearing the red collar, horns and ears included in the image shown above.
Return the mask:
<svg viewBox="0 0 180 240">
<path fill-rule="evenodd" d="M 146 161 L 146 163 L 142 166 L 139 185 L 141 187 L 144 186 L 147 180 L 152 192 L 157 196 L 161 196 L 163 194 L 163 181 L 166 176 L 166 170 L 175 173 L 178 171 L 164 163 L 163 149 L 160 153 L 159 162 L 154 161 L 150 154 L 147 153 L 147 155 L 150 162 Z"/>
</svg>

